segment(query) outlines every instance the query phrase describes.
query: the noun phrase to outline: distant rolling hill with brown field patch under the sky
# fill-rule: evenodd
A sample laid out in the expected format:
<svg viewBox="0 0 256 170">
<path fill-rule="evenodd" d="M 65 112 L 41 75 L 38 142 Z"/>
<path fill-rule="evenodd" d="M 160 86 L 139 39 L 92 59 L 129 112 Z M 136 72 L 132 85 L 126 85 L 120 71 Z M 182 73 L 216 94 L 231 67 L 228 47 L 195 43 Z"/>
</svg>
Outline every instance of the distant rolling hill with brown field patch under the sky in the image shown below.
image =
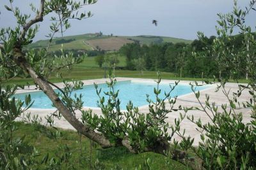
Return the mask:
<svg viewBox="0 0 256 170">
<path fill-rule="evenodd" d="M 75 36 L 64 36 L 60 38 L 54 38 L 52 40 L 50 51 L 60 50 L 61 44 L 65 50 L 119 50 L 120 47 L 126 43 L 140 43 L 141 45 L 150 45 L 152 43 L 163 43 L 163 42 L 184 42 L 191 43 L 191 40 L 184 40 L 180 38 L 172 38 L 166 36 L 110 36 L 100 35 L 99 33 L 84 34 Z M 40 49 L 47 47 L 49 40 L 40 40 L 32 43 L 28 46 L 29 49 Z"/>
</svg>

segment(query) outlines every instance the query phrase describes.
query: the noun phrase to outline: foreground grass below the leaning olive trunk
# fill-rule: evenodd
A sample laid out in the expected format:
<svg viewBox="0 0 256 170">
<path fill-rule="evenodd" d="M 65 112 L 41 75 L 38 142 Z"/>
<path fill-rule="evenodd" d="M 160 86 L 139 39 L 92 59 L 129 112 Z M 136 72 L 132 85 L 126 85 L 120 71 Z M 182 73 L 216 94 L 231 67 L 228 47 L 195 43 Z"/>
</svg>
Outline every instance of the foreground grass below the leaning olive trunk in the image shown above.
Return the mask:
<svg viewBox="0 0 256 170">
<path fill-rule="evenodd" d="M 41 160 L 44 155 L 49 153 L 49 158 L 53 157 L 56 152 L 58 152 L 58 146 L 67 144 L 72 152 L 72 157 L 69 162 L 74 164 L 78 169 L 79 167 L 79 157 L 80 157 L 80 143 L 79 135 L 77 132 L 72 130 L 60 130 L 61 137 L 56 139 L 49 135 L 50 128 L 42 128 L 40 125 L 29 125 L 24 123 L 15 123 L 17 126 L 17 131 L 14 133 L 14 137 L 22 137 L 26 135 L 25 141 L 29 145 L 35 146 L 36 150 L 40 151 Z M 90 141 L 86 137 L 81 137 L 81 144 L 83 151 L 83 159 L 81 163 L 83 164 L 82 169 L 90 169 Z M 135 169 L 140 165 L 143 165 L 145 159 L 150 158 L 152 160 L 152 169 L 186 169 L 182 164 L 171 160 L 171 166 L 168 167 L 165 164 L 165 157 L 157 153 L 142 153 L 134 155 L 129 153 L 124 147 L 109 148 L 102 150 L 99 146 L 92 147 L 92 163 L 99 160 L 101 164 L 104 165 L 106 169 L 115 168 L 115 166 L 123 167 L 124 169 Z M 63 167 L 65 169 L 65 167 Z"/>
</svg>

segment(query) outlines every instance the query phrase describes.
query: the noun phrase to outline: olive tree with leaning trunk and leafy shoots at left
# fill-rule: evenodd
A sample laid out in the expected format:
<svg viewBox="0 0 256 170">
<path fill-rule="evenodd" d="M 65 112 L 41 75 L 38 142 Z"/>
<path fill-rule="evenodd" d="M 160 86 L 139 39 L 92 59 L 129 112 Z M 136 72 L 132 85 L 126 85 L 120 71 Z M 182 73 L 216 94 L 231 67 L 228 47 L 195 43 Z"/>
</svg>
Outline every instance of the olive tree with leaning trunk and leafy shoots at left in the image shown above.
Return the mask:
<svg viewBox="0 0 256 170">
<path fill-rule="evenodd" d="M 41 89 L 51 100 L 58 112 L 72 125 L 79 134 L 82 134 L 102 148 L 114 146 L 125 146 L 132 153 L 141 153 L 144 151 L 154 151 L 164 154 L 165 150 L 170 148 L 170 141 L 174 132 L 179 128 L 179 123 L 184 119 L 183 115 L 175 120 L 176 126 L 173 127 L 166 123 L 166 114 L 180 108 L 174 108 L 176 98 L 170 96 L 171 91 L 177 86 L 170 88 L 170 91 L 164 92 L 166 97 L 159 98 L 163 93 L 159 89 L 160 77 L 157 81 L 157 88 L 154 89 L 156 100 L 148 101 L 148 113 L 140 113 L 137 107 L 130 102 L 127 105 L 127 112 L 120 111 L 120 100 L 118 91 L 113 86 L 115 80 L 108 82 L 109 91 L 104 92 L 108 99 L 101 97 L 101 90 L 97 89 L 99 95 L 99 106 L 102 110 L 102 116 L 97 116 L 92 111 L 83 110 L 83 101 L 81 95 L 75 95 L 70 98 L 72 91 L 81 89 L 83 82 L 63 81 L 65 88 L 60 89 L 58 86 L 49 81 L 48 77 L 52 72 L 58 72 L 61 68 L 70 68 L 73 64 L 83 61 L 83 56 L 74 58 L 72 53 L 64 54 L 61 49 L 60 56 L 47 58 L 48 49 L 51 45 L 52 38 L 58 32 L 63 33 L 70 27 L 70 19 L 86 19 L 92 14 L 80 13 L 80 9 L 88 4 L 96 3 L 93 0 L 84 1 L 46 1 L 40 0 L 38 9 L 31 5 L 35 12 L 35 17 L 22 14 L 19 8 L 13 7 L 13 1 L 6 5 L 6 10 L 13 13 L 17 18 L 15 28 L 3 28 L 0 32 L 1 59 L 0 59 L 0 81 L 8 81 L 15 77 L 31 77 L 37 88 Z M 34 50 L 25 51 L 36 35 L 39 29 L 38 23 L 43 22 L 46 15 L 51 15 L 52 24 L 49 33 L 49 45 L 40 49 L 39 52 Z M 61 75 L 60 75 L 61 77 Z M 52 86 L 58 88 L 60 93 L 56 93 Z M 97 85 L 95 85 L 97 88 Z M 1 89 L 1 93 L 6 93 Z M 13 91 L 15 93 L 15 89 Z M 104 102 L 107 100 L 107 102 Z M 166 102 L 170 109 L 167 109 Z M 4 109 L 1 105 L 1 109 Z M 83 113 L 82 121 L 76 117 L 76 111 Z M 8 111 L 7 111 L 8 112 Z M 168 128 L 172 128 L 172 134 L 168 134 Z M 179 154 L 179 153 L 177 153 Z"/>
</svg>

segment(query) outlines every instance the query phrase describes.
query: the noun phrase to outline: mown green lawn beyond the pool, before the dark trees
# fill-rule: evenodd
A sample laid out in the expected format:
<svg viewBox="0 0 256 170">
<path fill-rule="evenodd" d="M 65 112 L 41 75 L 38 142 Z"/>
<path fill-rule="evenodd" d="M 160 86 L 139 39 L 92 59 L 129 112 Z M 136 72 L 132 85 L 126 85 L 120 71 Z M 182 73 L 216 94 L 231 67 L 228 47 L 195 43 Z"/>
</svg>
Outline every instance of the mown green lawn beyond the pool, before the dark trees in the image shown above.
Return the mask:
<svg viewBox="0 0 256 170">
<path fill-rule="evenodd" d="M 93 58 L 88 59 L 88 63 L 80 63 L 79 65 L 73 66 L 71 70 L 63 70 L 61 73 L 65 80 L 67 81 L 81 81 L 81 80 L 88 80 L 88 79 L 102 79 L 104 78 L 104 69 L 99 68 L 95 63 L 93 63 Z M 90 64 L 91 63 L 91 64 Z M 108 70 L 106 70 L 108 73 Z M 140 78 L 140 79 L 157 79 L 157 72 L 152 71 L 145 71 L 143 75 L 140 74 L 138 71 L 131 71 L 131 70 L 115 70 L 115 77 L 133 77 L 133 78 Z M 175 77 L 175 73 L 170 72 L 161 72 L 162 79 L 168 80 L 180 80 L 180 81 L 213 81 L 213 79 L 201 79 L 201 78 L 192 78 L 192 77 Z M 61 82 L 61 79 L 54 77 L 49 77 L 51 82 Z M 4 82 L 3 84 L 19 84 L 19 85 L 27 85 L 27 82 L 31 85 L 33 84 L 32 79 L 12 79 L 11 81 Z M 235 81 L 230 81 L 235 82 Z M 248 83 L 245 79 L 239 80 L 239 83 Z"/>
</svg>

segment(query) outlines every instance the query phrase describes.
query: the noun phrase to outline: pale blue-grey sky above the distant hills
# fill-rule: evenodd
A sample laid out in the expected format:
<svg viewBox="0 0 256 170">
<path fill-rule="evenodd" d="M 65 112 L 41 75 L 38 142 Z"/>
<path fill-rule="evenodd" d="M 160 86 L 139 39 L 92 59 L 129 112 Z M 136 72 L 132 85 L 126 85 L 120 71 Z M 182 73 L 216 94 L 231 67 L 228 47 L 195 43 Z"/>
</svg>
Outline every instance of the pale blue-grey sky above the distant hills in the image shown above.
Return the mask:
<svg viewBox="0 0 256 170">
<path fill-rule="evenodd" d="M 14 0 L 13 4 L 22 13 L 31 13 L 31 2 L 39 7 L 40 0 Z M 250 0 L 238 0 L 243 9 L 249 3 Z M 9 5 L 9 0 L 0 0 L 0 28 L 14 27 L 16 20 L 12 12 L 5 10 L 4 4 Z M 157 35 L 194 40 L 197 31 L 206 36 L 216 35 L 217 13 L 231 12 L 232 5 L 233 0 L 98 0 L 83 8 L 83 11 L 92 12 L 93 17 L 72 20 L 72 27 L 64 36 L 101 31 L 104 35 Z M 253 26 L 253 30 L 255 18 L 256 12 L 253 11 L 246 19 L 246 24 Z M 49 19 L 46 17 L 40 24 L 35 40 L 47 39 Z M 158 21 L 157 26 L 152 24 L 153 19 Z"/>
</svg>

